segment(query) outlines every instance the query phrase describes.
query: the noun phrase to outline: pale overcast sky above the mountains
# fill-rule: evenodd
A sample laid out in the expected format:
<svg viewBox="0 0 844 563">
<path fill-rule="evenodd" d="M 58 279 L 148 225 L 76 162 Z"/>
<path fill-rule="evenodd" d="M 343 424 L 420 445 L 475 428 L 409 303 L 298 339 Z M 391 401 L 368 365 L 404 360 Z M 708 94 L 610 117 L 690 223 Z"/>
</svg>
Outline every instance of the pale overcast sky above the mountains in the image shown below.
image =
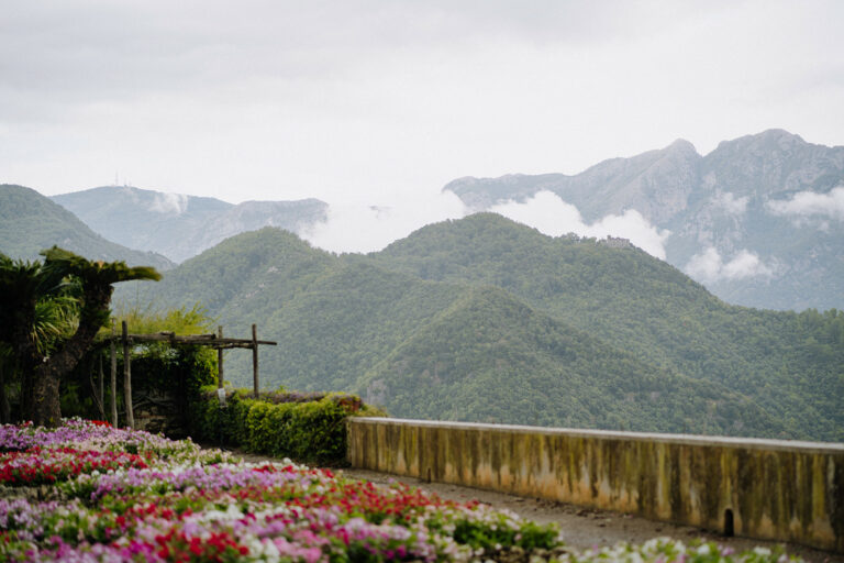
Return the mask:
<svg viewBox="0 0 844 563">
<path fill-rule="evenodd" d="M 441 189 L 463 176 L 576 174 L 679 137 L 706 154 L 771 128 L 844 144 L 840 1 L 0 10 L 0 183 L 44 195 L 127 184 L 234 203 L 315 197 L 332 206 L 312 235 L 325 245 L 357 221 L 384 223 L 340 250 L 459 217 Z"/>
</svg>

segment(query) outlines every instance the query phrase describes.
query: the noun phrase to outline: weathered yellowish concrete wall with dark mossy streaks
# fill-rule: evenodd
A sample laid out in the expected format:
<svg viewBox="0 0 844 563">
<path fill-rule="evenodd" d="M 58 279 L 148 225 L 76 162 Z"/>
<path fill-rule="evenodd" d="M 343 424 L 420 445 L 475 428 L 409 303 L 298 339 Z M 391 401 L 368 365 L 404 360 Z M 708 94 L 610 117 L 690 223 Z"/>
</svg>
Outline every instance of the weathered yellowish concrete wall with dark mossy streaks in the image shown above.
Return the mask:
<svg viewBox="0 0 844 563">
<path fill-rule="evenodd" d="M 355 467 L 844 552 L 844 444 L 351 418 Z"/>
</svg>

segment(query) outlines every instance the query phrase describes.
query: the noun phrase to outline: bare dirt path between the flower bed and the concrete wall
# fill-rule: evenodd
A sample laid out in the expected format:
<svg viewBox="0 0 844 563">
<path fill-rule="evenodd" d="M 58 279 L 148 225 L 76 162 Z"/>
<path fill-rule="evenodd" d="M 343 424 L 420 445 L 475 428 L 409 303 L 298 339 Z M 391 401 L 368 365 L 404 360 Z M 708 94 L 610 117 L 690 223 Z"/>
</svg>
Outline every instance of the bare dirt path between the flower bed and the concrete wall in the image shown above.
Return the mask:
<svg viewBox="0 0 844 563">
<path fill-rule="evenodd" d="M 236 452 L 246 461 L 262 462 L 273 461 L 271 457 Z M 407 483 L 437 494 L 442 498 L 467 501 L 479 500 L 493 506 L 506 508 L 518 514 L 522 518 L 536 522 L 556 522 L 563 530 L 566 544 L 577 549 L 592 547 L 614 545 L 625 541 L 630 543 L 644 543 L 657 537 L 669 537 L 688 542 L 696 538 L 706 541 L 715 541 L 730 545 L 736 551 L 753 549 L 756 545 L 773 548 L 776 542 L 751 540 L 746 538 L 724 538 L 718 533 L 711 533 L 699 528 L 688 526 L 675 526 L 667 522 L 657 522 L 632 515 L 611 512 L 608 510 L 586 509 L 575 505 L 543 500 L 536 498 L 518 497 L 491 490 L 448 485 L 445 483 L 424 483 L 413 477 L 396 476 L 386 473 L 377 473 L 366 470 L 332 470 L 337 474 L 355 479 L 371 481 L 377 485 L 387 485 L 391 482 Z M 811 563 L 844 563 L 844 554 L 830 553 L 793 543 L 785 544 L 789 554 L 798 555 Z"/>
</svg>

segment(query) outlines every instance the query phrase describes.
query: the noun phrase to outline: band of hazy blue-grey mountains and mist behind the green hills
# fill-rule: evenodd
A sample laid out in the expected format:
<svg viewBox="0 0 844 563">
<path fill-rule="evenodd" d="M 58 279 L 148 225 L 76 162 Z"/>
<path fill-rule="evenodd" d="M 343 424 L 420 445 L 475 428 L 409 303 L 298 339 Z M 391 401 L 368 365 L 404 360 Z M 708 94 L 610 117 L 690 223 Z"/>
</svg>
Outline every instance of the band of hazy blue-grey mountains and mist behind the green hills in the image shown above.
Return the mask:
<svg viewBox="0 0 844 563">
<path fill-rule="evenodd" d="M 125 186 L 53 200 L 102 236 L 175 262 L 267 225 L 332 252 L 379 251 L 425 224 L 489 210 L 549 235 L 629 239 L 731 303 L 844 307 L 844 146 L 782 130 L 724 141 L 704 156 L 678 140 L 573 176 L 464 177 L 392 206 L 235 206 Z"/>
</svg>

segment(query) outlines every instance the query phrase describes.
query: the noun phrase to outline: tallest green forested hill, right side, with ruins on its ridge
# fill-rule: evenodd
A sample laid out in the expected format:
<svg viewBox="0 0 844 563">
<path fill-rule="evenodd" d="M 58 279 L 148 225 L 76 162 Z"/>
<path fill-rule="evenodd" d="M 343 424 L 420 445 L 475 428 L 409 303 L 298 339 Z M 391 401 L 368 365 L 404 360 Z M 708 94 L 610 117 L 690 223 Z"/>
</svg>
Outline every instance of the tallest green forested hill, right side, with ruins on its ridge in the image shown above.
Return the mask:
<svg viewBox="0 0 844 563">
<path fill-rule="evenodd" d="M 730 306 L 636 249 L 553 239 L 491 213 L 425 227 L 370 260 L 499 286 L 640 360 L 753 397 L 789 428 L 844 439 L 840 311 Z"/>
</svg>

